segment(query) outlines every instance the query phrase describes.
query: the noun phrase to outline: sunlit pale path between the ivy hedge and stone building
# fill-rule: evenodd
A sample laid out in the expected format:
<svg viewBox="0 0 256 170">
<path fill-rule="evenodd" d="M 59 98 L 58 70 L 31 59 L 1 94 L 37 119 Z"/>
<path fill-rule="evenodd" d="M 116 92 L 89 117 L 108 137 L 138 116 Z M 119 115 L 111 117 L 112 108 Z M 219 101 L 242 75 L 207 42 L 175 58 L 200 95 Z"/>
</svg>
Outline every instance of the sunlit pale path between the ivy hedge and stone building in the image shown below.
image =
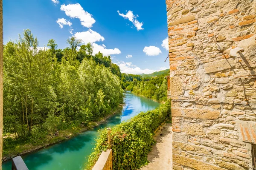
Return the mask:
<svg viewBox="0 0 256 170">
<path fill-rule="evenodd" d="M 141 170 L 172 170 L 172 124 L 164 124 L 154 139 L 157 143 L 148 153 L 150 162 Z"/>
</svg>

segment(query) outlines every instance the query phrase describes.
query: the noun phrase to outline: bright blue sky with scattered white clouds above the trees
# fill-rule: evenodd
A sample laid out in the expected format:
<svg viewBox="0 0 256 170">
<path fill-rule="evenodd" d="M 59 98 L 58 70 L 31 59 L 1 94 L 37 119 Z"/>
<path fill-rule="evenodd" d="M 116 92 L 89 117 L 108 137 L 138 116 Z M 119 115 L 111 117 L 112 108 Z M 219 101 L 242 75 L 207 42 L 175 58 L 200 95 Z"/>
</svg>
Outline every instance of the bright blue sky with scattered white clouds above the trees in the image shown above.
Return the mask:
<svg viewBox="0 0 256 170">
<path fill-rule="evenodd" d="M 3 27 L 4 43 L 26 28 L 39 46 L 54 39 L 63 49 L 76 36 L 125 73 L 169 68 L 165 0 L 3 0 Z"/>
</svg>

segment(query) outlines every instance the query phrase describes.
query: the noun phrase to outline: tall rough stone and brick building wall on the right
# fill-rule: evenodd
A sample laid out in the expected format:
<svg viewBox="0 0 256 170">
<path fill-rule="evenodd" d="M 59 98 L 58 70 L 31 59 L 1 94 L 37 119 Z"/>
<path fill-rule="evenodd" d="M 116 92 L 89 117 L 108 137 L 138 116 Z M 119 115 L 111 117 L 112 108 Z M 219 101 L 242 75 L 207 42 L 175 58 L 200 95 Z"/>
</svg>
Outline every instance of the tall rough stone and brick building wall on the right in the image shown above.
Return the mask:
<svg viewBox="0 0 256 170">
<path fill-rule="evenodd" d="M 166 5 L 173 169 L 253 170 L 256 0 Z"/>
</svg>

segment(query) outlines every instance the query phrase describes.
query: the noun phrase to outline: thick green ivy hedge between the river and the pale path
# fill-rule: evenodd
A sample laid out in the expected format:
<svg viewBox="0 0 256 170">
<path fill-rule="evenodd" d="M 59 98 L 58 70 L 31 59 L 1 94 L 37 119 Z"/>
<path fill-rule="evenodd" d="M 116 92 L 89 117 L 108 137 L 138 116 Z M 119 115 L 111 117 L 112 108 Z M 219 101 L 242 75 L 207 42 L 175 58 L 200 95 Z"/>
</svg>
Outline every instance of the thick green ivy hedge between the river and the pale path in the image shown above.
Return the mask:
<svg viewBox="0 0 256 170">
<path fill-rule="evenodd" d="M 111 148 L 114 170 L 136 170 L 147 164 L 147 154 L 153 139 L 154 130 L 171 114 L 171 103 L 167 101 L 159 108 L 141 112 L 128 122 L 122 122 L 112 128 Z M 87 169 L 91 169 L 103 150 L 108 146 L 107 129 L 100 132 L 96 146 L 90 155 Z"/>
</svg>

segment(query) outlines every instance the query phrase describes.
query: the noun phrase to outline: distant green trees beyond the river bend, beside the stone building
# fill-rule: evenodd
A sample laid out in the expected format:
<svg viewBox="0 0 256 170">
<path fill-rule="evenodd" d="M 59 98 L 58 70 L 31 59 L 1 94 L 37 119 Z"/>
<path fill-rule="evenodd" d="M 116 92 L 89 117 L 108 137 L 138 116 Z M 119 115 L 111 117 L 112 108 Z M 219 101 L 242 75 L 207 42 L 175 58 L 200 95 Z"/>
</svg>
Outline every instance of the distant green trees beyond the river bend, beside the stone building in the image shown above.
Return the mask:
<svg viewBox="0 0 256 170">
<path fill-rule="evenodd" d="M 122 74 L 122 88 L 157 102 L 167 100 L 167 79 L 164 76 L 142 78 L 140 75 Z"/>
</svg>

